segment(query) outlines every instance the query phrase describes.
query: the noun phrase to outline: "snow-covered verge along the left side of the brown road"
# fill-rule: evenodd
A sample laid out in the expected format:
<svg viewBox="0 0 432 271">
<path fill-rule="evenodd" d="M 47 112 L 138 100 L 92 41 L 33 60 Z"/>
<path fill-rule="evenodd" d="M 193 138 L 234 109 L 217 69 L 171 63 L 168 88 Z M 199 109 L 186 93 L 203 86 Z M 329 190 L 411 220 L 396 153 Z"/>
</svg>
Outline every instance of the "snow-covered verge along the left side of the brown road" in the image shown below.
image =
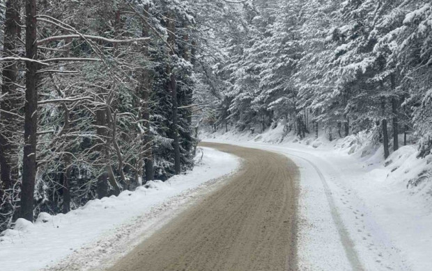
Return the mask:
<svg viewBox="0 0 432 271">
<path fill-rule="evenodd" d="M 19 220 L 0 237 L 0 270 L 99 270 L 127 253 L 239 165 L 235 156 L 199 148 L 197 166 L 166 182 L 96 199 L 63 215 Z M 109 261 L 107 261 L 109 260 Z M 53 267 L 54 265 L 54 267 Z"/>
</svg>

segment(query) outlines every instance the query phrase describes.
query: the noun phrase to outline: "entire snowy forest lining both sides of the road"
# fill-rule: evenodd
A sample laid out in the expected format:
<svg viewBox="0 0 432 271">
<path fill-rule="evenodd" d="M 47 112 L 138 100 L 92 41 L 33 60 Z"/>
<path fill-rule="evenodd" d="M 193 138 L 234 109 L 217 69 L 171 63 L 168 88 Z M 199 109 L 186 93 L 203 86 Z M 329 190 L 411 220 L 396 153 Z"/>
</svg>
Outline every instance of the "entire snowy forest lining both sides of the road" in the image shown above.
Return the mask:
<svg viewBox="0 0 432 271">
<path fill-rule="evenodd" d="M 432 148 L 426 0 L 3 0 L 0 229 L 193 167 L 199 125 Z M 407 139 L 407 134 L 410 138 Z M 401 143 L 400 143 L 401 142 Z"/>
</svg>

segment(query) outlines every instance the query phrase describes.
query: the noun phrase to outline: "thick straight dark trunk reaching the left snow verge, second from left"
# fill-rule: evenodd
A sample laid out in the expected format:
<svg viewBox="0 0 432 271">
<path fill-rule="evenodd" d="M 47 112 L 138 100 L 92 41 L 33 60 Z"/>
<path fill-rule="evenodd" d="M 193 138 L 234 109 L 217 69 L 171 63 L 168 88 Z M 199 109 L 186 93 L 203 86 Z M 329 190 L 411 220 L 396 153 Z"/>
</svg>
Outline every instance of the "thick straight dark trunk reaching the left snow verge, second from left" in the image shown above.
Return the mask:
<svg viewBox="0 0 432 271">
<path fill-rule="evenodd" d="M 36 0 L 26 0 L 26 58 L 38 59 Z M 20 217 L 33 221 L 33 194 L 36 180 L 36 144 L 38 131 L 38 64 L 26 62 L 26 101 L 24 108 L 24 156 Z"/>
</svg>

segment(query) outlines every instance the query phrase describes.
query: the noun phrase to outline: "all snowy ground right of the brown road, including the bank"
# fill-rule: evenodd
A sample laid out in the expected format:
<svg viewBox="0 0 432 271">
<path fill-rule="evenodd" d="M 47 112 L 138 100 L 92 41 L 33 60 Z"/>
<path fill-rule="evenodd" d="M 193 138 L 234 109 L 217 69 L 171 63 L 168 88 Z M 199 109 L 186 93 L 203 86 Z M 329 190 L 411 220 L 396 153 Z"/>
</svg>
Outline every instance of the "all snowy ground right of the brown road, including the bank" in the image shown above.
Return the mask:
<svg viewBox="0 0 432 271">
<path fill-rule="evenodd" d="M 299 165 L 301 270 L 432 270 L 432 158 L 406 146 L 384 161 L 363 136 L 300 142 L 279 126 L 202 138 L 277 151 Z"/>
</svg>

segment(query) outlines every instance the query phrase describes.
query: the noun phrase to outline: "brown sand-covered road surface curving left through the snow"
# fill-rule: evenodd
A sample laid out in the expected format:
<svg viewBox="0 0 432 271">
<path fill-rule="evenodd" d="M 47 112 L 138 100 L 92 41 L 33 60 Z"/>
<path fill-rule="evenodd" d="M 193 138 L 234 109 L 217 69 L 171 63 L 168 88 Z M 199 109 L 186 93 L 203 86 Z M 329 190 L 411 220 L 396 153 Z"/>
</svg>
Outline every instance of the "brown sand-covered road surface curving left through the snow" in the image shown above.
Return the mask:
<svg viewBox="0 0 432 271">
<path fill-rule="evenodd" d="M 298 167 L 269 151 L 201 145 L 242 167 L 109 270 L 297 270 Z"/>
</svg>

